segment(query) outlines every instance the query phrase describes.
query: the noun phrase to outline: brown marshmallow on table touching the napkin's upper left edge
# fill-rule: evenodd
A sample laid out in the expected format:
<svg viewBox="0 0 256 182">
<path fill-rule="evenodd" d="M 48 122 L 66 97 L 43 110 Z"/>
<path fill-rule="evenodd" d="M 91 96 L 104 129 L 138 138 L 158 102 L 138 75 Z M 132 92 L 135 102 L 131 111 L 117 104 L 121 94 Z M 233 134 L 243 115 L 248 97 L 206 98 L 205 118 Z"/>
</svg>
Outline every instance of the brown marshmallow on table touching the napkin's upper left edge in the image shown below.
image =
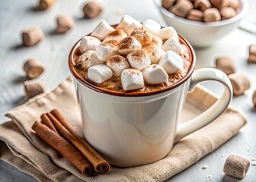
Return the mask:
<svg viewBox="0 0 256 182">
<path fill-rule="evenodd" d="M 39 95 L 40 93 L 45 93 L 45 86 L 40 82 L 24 82 L 24 89 L 27 99 Z"/>
</svg>

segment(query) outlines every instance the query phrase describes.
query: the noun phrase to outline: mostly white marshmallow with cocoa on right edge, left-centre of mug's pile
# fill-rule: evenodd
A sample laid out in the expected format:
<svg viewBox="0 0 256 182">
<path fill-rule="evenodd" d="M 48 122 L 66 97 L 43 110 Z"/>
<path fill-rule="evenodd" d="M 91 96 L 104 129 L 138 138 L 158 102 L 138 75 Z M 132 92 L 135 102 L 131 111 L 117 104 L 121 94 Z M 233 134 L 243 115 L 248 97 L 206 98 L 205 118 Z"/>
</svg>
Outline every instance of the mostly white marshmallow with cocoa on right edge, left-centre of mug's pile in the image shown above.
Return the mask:
<svg viewBox="0 0 256 182">
<path fill-rule="evenodd" d="M 118 55 L 117 46 L 110 43 L 101 43 L 95 50 L 97 57 L 104 62 L 112 55 Z"/>
</svg>

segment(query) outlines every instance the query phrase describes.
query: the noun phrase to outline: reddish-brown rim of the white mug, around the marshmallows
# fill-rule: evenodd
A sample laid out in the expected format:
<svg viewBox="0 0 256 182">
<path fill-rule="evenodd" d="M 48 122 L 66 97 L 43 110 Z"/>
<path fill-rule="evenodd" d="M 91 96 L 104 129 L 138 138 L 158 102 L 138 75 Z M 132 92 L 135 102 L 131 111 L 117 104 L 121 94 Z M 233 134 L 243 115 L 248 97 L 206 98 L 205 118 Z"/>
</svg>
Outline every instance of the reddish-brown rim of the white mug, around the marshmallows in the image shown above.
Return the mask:
<svg viewBox="0 0 256 182">
<path fill-rule="evenodd" d="M 117 27 L 117 24 L 111 25 L 112 27 Z M 89 36 L 91 33 L 88 33 L 85 36 Z M 78 74 L 78 71 L 75 68 L 75 60 L 74 60 L 74 53 L 76 48 L 78 48 L 78 44 L 81 42 L 82 38 L 84 36 L 82 36 L 81 39 L 78 39 L 77 42 L 75 42 L 75 45 L 72 46 L 72 49 L 69 52 L 69 71 L 71 72 L 72 76 L 75 77 L 76 80 L 78 80 L 79 83 L 81 83 L 83 86 L 86 86 L 88 89 L 93 90 L 94 92 L 97 93 L 103 93 L 106 95 L 110 95 L 110 96 L 122 96 L 122 97 L 144 97 L 144 96 L 153 96 L 153 95 L 158 95 L 160 93 L 166 93 L 172 89 L 177 88 L 178 86 L 181 86 L 183 83 L 185 83 L 193 74 L 194 72 L 194 67 L 196 64 L 196 55 L 194 52 L 194 49 L 192 48 L 192 46 L 190 45 L 190 43 L 187 41 L 187 39 L 184 39 L 183 36 L 181 36 L 180 34 L 178 34 L 179 39 L 182 39 L 183 42 L 187 45 L 189 51 L 191 52 L 191 63 L 190 63 L 190 67 L 189 70 L 187 71 L 187 74 L 185 75 L 185 77 L 181 78 L 181 80 L 179 80 L 177 83 L 174 83 L 172 86 L 168 86 L 165 89 L 159 89 L 157 91 L 151 91 L 151 92 L 146 92 L 146 93 L 118 93 L 118 92 L 114 92 L 112 90 L 109 89 L 102 89 L 98 86 L 95 86 L 94 84 L 88 82 L 87 80 L 85 80 L 80 74 Z"/>
</svg>

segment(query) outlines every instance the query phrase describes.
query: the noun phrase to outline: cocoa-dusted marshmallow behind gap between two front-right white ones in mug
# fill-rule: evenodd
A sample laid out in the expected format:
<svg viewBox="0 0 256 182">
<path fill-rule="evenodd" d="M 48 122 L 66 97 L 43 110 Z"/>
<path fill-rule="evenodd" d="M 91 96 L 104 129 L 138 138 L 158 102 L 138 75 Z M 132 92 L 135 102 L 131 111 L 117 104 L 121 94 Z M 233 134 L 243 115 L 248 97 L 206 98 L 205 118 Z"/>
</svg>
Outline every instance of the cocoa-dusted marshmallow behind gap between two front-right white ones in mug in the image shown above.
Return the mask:
<svg viewBox="0 0 256 182">
<path fill-rule="evenodd" d="M 126 58 L 128 59 L 130 66 L 139 71 L 144 70 L 151 64 L 150 58 L 144 50 L 131 52 Z"/>
</svg>

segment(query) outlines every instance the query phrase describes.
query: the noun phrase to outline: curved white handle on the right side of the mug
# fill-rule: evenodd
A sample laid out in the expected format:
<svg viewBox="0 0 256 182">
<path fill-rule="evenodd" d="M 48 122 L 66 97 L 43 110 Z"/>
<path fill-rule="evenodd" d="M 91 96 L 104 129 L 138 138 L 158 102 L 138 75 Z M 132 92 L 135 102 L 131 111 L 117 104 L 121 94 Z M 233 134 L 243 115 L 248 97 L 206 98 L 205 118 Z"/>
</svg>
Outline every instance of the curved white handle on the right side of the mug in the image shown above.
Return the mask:
<svg viewBox="0 0 256 182">
<path fill-rule="evenodd" d="M 229 77 L 217 69 L 202 68 L 194 71 L 194 74 L 190 80 L 188 92 L 192 92 L 197 83 L 211 80 L 222 83 L 225 88 L 224 93 L 210 108 L 208 108 L 202 114 L 198 115 L 196 118 L 190 121 L 187 121 L 184 124 L 179 124 L 174 143 L 177 143 L 178 140 L 181 140 L 181 138 L 186 137 L 190 133 L 205 127 L 207 124 L 210 124 L 210 122 L 218 118 L 219 115 L 221 115 L 222 112 L 224 112 L 229 106 L 233 95 L 232 85 L 230 83 Z"/>
</svg>

